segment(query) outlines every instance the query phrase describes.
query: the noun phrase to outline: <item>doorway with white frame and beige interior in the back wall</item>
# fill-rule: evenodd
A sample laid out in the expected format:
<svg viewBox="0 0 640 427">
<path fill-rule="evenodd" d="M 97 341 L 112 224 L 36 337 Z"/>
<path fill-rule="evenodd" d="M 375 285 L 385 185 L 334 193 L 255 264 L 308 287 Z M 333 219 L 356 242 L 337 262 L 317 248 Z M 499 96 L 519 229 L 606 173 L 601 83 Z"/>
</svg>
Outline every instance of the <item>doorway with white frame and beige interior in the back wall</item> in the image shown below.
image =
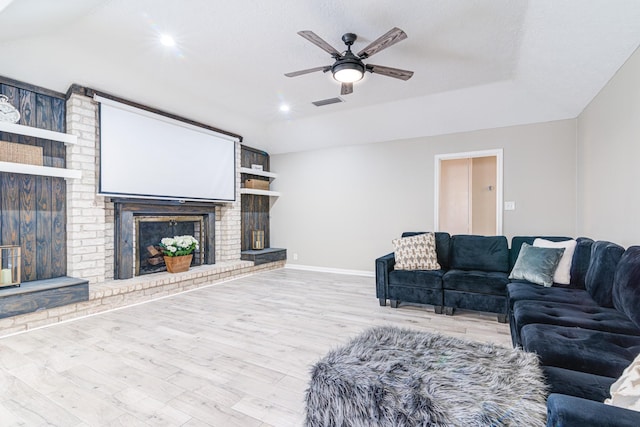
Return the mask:
<svg viewBox="0 0 640 427">
<path fill-rule="evenodd" d="M 436 231 L 502 234 L 502 149 L 435 156 Z"/>
</svg>

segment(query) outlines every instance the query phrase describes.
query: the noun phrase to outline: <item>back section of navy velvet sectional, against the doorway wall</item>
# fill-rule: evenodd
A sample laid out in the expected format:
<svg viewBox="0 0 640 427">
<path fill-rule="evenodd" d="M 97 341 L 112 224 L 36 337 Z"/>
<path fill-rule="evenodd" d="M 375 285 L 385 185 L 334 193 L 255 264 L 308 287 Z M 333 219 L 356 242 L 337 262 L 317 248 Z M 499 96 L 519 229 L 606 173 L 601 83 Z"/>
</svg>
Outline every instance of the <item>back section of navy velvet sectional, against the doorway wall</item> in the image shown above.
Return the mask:
<svg viewBox="0 0 640 427">
<path fill-rule="evenodd" d="M 423 232 L 405 232 L 410 237 Z M 394 254 L 376 259 L 376 296 L 380 305 L 389 300 L 397 308 L 401 302 L 433 305 L 436 313 L 453 315 L 455 309 L 496 313 L 498 321 L 506 322 L 509 305 L 507 286 L 513 281 L 509 273 L 515 265 L 523 243 L 532 244 L 541 237 L 551 241 L 570 237 L 518 236 L 511 249 L 504 236 L 454 235 L 436 232 L 436 253 L 440 270 L 395 270 Z M 584 277 L 589 265 L 591 239 L 577 239 L 573 255 L 571 284 L 584 289 Z M 529 285 L 535 292 L 539 285 Z M 555 288 L 554 288 L 555 289 Z"/>
</svg>

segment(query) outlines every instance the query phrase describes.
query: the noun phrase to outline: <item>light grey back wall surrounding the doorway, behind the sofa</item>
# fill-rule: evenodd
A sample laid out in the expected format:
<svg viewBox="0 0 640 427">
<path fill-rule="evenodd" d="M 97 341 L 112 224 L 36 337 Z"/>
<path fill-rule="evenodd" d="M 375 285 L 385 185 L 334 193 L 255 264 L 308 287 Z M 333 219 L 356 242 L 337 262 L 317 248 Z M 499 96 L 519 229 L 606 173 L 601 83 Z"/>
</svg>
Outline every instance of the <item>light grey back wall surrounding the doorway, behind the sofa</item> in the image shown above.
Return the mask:
<svg viewBox="0 0 640 427">
<path fill-rule="evenodd" d="M 504 234 L 575 235 L 576 122 L 563 120 L 273 155 L 271 246 L 291 264 L 373 271 L 402 231 L 433 229 L 434 156 L 494 148 L 516 202 Z"/>
</svg>

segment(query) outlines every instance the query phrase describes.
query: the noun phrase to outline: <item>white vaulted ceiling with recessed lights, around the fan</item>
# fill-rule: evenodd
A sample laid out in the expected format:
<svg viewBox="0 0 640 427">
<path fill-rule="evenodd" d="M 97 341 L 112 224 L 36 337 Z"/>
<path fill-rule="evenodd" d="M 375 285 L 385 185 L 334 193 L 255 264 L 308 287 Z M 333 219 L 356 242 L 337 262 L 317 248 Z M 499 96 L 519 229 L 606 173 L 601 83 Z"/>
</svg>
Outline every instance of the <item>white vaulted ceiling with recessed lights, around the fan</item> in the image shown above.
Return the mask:
<svg viewBox="0 0 640 427">
<path fill-rule="evenodd" d="M 639 0 L 0 0 L 0 75 L 102 90 L 245 137 L 271 153 L 574 118 L 640 45 Z M 370 62 L 342 104 L 330 65 L 296 32 Z M 172 34 L 177 46 L 159 44 Z M 291 111 L 283 114 L 286 102 Z"/>
</svg>

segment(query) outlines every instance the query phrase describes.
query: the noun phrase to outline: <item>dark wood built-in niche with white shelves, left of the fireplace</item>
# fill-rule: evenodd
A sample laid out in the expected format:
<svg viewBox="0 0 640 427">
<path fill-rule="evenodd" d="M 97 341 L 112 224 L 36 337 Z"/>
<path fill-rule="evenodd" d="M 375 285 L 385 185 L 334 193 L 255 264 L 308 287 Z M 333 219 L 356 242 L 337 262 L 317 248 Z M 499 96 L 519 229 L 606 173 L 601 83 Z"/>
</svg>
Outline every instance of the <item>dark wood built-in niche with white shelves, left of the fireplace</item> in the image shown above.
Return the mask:
<svg viewBox="0 0 640 427">
<path fill-rule="evenodd" d="M 66 130 L 63 93 L 0 77 L 20 121 L 0 123 L 0 140 L 42 147 L 43 166 L 0 162 L 0 244 L 21 248 L 21 285 L 0 289 L 0 318 L 87 301 L 87 280 L 67 277 Z"/>
</svg>

